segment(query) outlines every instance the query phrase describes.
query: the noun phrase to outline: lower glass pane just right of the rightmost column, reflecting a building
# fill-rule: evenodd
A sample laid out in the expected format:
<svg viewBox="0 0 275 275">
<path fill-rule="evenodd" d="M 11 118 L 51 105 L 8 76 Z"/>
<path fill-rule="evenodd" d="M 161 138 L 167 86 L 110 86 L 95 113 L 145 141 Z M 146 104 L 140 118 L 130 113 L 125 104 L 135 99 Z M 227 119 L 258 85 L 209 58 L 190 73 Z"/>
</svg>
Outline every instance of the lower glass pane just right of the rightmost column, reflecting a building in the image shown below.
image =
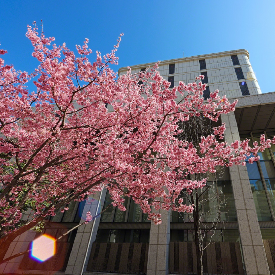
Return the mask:
<svg viewBox="0 0 275 275">
<path fill-rule="evenodd" d="M 272 221 L 266 193 L 261 180 L 250 180 L 253 199 L 259 221 Z"/>
</svg>

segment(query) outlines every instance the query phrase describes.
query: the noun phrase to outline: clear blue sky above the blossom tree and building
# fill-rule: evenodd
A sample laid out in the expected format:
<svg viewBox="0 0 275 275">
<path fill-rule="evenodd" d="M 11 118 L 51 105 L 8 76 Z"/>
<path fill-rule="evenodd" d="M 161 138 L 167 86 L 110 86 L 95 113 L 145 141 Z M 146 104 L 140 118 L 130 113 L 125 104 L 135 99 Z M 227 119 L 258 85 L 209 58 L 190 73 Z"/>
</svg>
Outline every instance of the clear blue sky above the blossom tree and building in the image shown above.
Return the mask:
<svg viewBox="0 0 275 275">
<path fill-rule="evenodd" d="M 7 64 L 37 66 L 26 26 L 43 20 L 45 35 L 70 49 L 110 52 L 120 32 L 120 67 L 246 49 L 262 92 L 275 91 L 275 0 L 2 0 L 0 43 Z M 93 58 L 91 57 L 91 61 Z"/>
</svg>

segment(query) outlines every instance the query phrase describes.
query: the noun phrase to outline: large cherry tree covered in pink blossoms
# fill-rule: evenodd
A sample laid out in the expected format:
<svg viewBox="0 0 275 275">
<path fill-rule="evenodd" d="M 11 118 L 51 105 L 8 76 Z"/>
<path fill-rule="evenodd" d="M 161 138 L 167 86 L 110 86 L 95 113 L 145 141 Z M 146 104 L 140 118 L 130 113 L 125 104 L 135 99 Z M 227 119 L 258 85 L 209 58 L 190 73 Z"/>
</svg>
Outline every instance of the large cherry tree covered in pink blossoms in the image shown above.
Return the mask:
<svg viewBox="0 0 275 275">
<path fill-rule="evenodd" d="M 202 136 L 199 147 L 178 139 L 179 122 L 192 116 L 217 121 L 237 101 L 219 97 L 218 90 L 204 101 L 203 76 L 169 89 L 158 64 L 117 77 L 109 65 L 118 64 L 122 35 L 110 54 L 96 52 L 91 63 L 88 39 L 75 54 L 65 43 L 56 46 L 53 37 L 39 35 L 34 23 L 26 34 L 39 62 L 34 72 L 15 71 L 0 59 L 0 259 L 17 236 L 104 187 L 114 206 L 125 210 L 124 197 L 132 197 L 156 224 L 161 217 L 153 206 L 192 212 L 192 205 L 177 198 L 182 190 L 203 188 L 207 179 L 188 175 L 245 165 L 250 152 L 253 162 L 270 146 L 264 136 L 253 148 L 248 140 L 221 142 L 224 124 Z M 35 91 L 28 90 L 28 81 Z M 28 209 L 31 215 L 23 221 Z"/>
</svg>

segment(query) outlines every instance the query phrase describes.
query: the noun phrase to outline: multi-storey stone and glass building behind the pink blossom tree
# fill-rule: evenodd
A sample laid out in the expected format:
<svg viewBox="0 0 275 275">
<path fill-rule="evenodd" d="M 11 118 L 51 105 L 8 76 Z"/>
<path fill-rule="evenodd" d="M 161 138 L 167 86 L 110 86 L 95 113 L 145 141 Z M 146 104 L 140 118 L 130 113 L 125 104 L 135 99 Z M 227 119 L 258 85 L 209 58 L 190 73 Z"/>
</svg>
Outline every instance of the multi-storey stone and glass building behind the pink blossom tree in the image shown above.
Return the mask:
<svg viewBox="0 0 275 275">
<path fill-rule="evenodd" d="M 154 63 L 132 66 L 138 73 Z M 119 75 L 127 68 L 120 68 Z M 204 75 L 207 89 L 219 89 L 221 95 L 238 99 L 234 113 L 221 116 L 226 123 L 225 141 L 260 134 L 275 135 L 275 92 L 262 94 L 246 50 L 235 50 L 163 61 L 161 75 L 171 82 L 190 83 Z M 108 106 L 110 111 L 111 106 Z M 216 182 L 227 199 L 227 212 L 217 227 L 217 242 L 205 250 L 204 271 L 208 274 L 275 274 L 275 145 L 260 153 L 260 161 L 247 166 L 229 167 Z M 110 204 L 106 190 L 85 203 L 53 217 L 45 233 L 58 236 L 81 221 L 82 213 L 95 215 Z M 171 211 L 161 211 L 162 224 L 147 220 L 136 204 L 127 199 L 127 210 L 107 210 L 94 221 L 72 231 L 58 246 L 58 253 L 44 263 L 27 255 L 2 264 L 1 273 L 48 274 L 194 274 L 196 258 L 190 231 L 192 223 Z M 211 206 L 209 206 L 211 207 Z M 209 218 L 207 222 L 211 222 Z M 17 238 L 7 257 L 26 250 L 37 233 Z M 270 239 L 269 241 L 267 239 Z M 263 241 L 264 240 L 264 241 Z M 26 271 L 27 270 L 27 271 Z"/>
</svg>

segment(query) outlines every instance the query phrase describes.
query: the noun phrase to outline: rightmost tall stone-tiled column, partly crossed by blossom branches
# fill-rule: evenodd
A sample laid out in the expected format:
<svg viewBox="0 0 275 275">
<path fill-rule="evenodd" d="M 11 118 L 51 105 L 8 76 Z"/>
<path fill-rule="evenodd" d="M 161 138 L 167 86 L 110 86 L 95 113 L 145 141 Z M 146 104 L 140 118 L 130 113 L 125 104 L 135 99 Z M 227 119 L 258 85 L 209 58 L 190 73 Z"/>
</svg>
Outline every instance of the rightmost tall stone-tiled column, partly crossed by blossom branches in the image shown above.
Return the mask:
<svg viewBox="0 0 275 275">
<path fill-rule="evenodd" d="M 234 113 L 223 114 L 221 119 L 226 126 L 225 141 L 231 144 L 240 139 Z M 233 165 L 229 172 L 246 273 L 270 274 L 247 168 Z"/>
</svg>

